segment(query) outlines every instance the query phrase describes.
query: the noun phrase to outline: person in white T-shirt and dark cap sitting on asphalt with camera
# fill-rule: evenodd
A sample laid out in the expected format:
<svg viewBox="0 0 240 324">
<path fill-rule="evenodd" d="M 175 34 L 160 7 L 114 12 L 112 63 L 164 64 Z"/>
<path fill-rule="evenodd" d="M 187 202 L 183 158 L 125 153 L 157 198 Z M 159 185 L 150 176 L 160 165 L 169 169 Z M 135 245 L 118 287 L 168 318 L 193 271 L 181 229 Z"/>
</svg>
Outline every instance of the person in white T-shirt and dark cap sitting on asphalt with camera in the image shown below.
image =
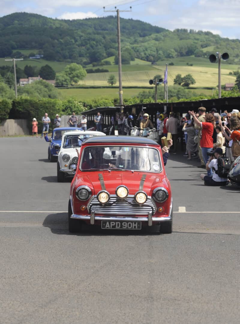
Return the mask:
<svg viewBox="0 0 240 324">
<path fill-rule="evenodd" d="M 210 153 L 210 152 L 209 152 Z M 204 180 L 205 186 L 226 186 L 227 178 L 221 178 L 218 175 L 218 158 L 223 156 L 223 150 L 218 147 L 210 156 L 209 160 L 206 164 L 206 170 L 209 171 L 211 168 L 213 169 L 213 177 L 207 176 L 205 174 L 201 174 L 200 177 Z"/>
</svg>

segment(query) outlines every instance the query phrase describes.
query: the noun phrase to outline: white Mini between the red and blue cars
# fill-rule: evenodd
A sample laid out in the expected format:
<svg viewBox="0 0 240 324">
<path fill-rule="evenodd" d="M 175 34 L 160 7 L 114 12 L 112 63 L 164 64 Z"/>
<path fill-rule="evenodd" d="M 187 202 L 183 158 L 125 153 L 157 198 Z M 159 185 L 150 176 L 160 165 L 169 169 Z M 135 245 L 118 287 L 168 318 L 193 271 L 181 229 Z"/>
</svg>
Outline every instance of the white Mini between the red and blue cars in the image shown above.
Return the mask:
<svg viewBox="0 0 240 324">
<path fill-rule="evenodd" d="M 74 175 L 78 163 L 78 154 L 82 142 L 92 136 L 106 135 L 97 131 L 71 131 L 62 136 L 60 152 L 58 154 L 57 179 L 63 182 L 66 175 Z"/>
</svg>

